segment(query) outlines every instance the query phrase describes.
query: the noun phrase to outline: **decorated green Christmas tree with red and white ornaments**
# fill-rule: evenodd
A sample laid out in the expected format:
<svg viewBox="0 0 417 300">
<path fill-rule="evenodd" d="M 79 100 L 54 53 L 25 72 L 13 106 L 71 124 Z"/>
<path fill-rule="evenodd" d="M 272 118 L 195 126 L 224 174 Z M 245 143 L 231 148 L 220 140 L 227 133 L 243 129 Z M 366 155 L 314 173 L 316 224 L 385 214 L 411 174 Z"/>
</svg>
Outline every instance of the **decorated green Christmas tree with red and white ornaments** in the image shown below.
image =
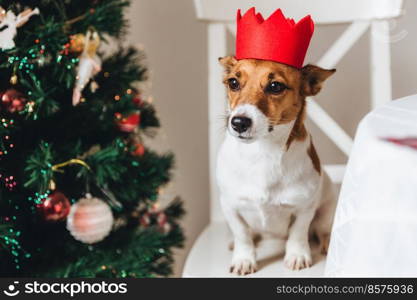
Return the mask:
<svg viewBox="0 0 417 300">
<path fill-rule="evenodd" d="M 126 0 L 0 1 L 0 275 L 156 277 L 183 241 Z M 118 46 L 120 47 L 120 46 Z M 108 47 L 111 48 L 111 47 Z"/>
</svg>

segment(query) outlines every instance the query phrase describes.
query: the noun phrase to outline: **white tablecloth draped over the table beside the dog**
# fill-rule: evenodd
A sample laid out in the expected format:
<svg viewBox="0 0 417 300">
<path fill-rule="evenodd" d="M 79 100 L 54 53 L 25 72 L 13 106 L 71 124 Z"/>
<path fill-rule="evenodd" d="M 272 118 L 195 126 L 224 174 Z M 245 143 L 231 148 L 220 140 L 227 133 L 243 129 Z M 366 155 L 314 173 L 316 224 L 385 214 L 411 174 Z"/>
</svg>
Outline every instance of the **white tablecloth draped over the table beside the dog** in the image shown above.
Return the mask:
<svg viewBox="0 0 417 300">
<path fill-rule="evenodd" d="M 326 276 L 417 277 L 417 150 L 387 137 L 417 137 L 417 95 L 381 106 L 359 124 Z"/>
</svg>

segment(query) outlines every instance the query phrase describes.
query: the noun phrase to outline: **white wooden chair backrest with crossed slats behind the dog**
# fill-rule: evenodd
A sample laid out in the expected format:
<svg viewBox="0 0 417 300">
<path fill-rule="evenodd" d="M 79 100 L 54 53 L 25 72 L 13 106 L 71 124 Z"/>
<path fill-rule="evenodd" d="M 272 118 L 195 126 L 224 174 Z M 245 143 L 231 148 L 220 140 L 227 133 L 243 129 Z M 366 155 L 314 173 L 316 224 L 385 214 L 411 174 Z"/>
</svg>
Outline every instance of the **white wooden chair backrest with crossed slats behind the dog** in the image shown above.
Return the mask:
<svg viewBox="0 0 417 300">
<path fill-rule="evenodd" d="M 402 14 L 402 0 L 194 0 L 197 18 L 208 23 L 208 85 L 209 85 L 209 173 L 211 221 L 223 219 L 215 180 L 218 148 L 224 126 L 221 116 L 226 109 L 222 69 L 218 57 L 228 54 L 227 32 L 235 34 L 234 22 L 238 8 L 246 11 L 255 6 L 264 16 L 282 8 L 287 16 L 299 20 L 310 14 L 317 25 L 351 23 L 317 62 L 323 68 L 333 68 L 355 42 L 370 28 L 371 107 L 391 100 L 389 19 Z M 352 138 L 313 99 L 309 99 L 310 119 L 346 155 Z M 325 166 L 332 180 L 340 183 L 344 165 Z"/>
</svg>

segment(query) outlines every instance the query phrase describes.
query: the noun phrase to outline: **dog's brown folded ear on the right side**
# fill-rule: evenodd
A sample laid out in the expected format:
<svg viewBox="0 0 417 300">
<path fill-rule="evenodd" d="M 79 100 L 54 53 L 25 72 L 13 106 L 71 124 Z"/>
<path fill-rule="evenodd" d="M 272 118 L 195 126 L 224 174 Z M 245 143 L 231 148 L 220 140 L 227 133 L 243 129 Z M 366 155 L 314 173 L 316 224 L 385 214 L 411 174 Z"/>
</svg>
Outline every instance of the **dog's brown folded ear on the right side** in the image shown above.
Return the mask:
<svg viewBox="0 0 417 300">
<path fill-rule="evenodd" d="M 320 92 L 323 82 L 329 78 L 336 69 L 326 70 L 313 65 L 306 65 L 301 69 L 303 96 L 314 96 Z"/>
</svg>

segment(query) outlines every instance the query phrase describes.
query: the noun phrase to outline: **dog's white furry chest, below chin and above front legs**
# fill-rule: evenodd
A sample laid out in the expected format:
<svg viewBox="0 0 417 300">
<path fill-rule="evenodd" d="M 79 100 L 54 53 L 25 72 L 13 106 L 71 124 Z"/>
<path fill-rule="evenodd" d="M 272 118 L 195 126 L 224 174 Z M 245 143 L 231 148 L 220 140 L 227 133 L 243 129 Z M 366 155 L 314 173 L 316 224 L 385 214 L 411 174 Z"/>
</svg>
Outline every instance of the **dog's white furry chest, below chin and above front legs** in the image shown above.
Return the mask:
<svg viewBox="0 0 417 300">
<path fill-rule="evenodd" d="M 217 162 L 222 206 L 238 211 L 255 231 L 285 236 L 291 214 L 313 203 L 320 186 L 306 151 L 303 143 L 288 152 L 268 141 L 226 137 Z"/>
</svg>

